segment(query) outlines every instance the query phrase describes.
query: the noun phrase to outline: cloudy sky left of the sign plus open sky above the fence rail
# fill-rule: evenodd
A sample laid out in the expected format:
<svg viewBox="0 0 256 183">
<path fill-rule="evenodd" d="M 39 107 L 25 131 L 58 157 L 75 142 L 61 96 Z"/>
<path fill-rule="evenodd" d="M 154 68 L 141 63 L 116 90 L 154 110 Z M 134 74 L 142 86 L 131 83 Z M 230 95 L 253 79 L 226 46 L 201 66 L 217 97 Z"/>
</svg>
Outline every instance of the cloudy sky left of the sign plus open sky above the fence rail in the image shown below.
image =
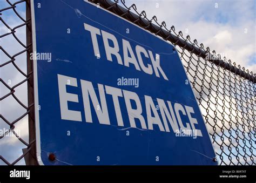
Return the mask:
<svg viewBox="0 0 256 183">
<path fill-rule="evenodd" d="M 135 3 L 137 10 L 139 12 L 145 10 L 149 19 L 156 15 L 159 23 L 165 21 L 167 28 L 174 25 L 176 32 L 181 30 L 184 37 L 190 35 L 191 40 L 197 39 L 199 44 L 204 44 L 204 48 L 209 46 L 211 51 L 215 50 L 227 59 L 231 59 L 232 63 L 240 64 L 241 67 L 256 73 L 255 0 L 126 0 L 125 2 L 127 6 Z M 6 6 L 8 6 L 6 1 L 0 0 L 0 9 Z M 25 3 L 18 4 L 16 10 L 25 18 Z M 11 28 L 23 23 L 12 10 L 4 11 L 2 18 Z M 0 23 L 0 35 L 6 32 L 8 29 Z M 25 43 L 25 27 L 17 29 L 15 34 Z M 16 42 L 12 36 L 6 36 L 1 39 L 1 46 L 10 55 L 14 55 L 24 49 L 21 45 L 14 44 Z M 0 58 L 1 64 L 8 60 L 3 52 L 0 52 Z M 16 64 L 26 73 L 25 60 L 25 54 L 16 57 Z M 25 79 L 11 64 L 1 68 L 0 74 L 10 86 Z M 2 84 L 0 89 L 1 96 L 9 92 Z M 27 105 L 26 84 L 18 86 L 15 94 Z M 1 101 L 0 113 L 9 121 L 15 120 L 25 112 L 26 110 L 11 96 Z M 28 142 L 28 118 L 19 120 L 15 126 L 21 137 Z M 0 129 L 3 128 L 8 128 L 8 125 L 0 119 Z M 4 137 L 0 140 L 0 155 L 13 162 L 22 155 L 21 150 L 25 147 L 16 137 Z M 0 165 L 3 164 L 0 160 Z M 23 159 L 18 162 L 18 165 L 22 164 L 24 164 Z"/>
</svg>

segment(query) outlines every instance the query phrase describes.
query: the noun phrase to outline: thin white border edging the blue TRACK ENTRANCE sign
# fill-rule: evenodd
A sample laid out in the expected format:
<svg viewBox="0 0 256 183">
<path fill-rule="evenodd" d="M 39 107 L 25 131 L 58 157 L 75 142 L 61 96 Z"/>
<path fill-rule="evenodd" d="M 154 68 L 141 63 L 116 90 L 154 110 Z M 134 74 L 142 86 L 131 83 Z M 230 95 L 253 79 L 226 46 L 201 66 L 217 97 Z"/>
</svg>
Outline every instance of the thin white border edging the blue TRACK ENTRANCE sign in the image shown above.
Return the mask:
<svg viewBox="0 0 256 183">
<path fill-rule="evenodd" d="M 142 29 L 143 31 L 146 31 L 146 32 L 150 33 L 150 34 L 153 35 L 154 37 L 157 37 L 157 38 L 160 39 L 161 41 L 163 41 L 163 42 L 165 42 L 165 43 L 168 43 L 168 44 L 170 44 L 170 45 L 172 45 L 172 46 L 174 47 L 174 45 L 173 45 L 171 42 L 165 41 L 163 38 L 160 38 L 160 37 L 154 35 L 154 34 L 153 34 L 152 32 L 150 32 L 149 30 L 145 30 L 145 29 L 141 28 L 140 26 L 138 26 L 138 25 L 136 25 L 136 24 L 134 24 L 134 23 L 132 23 L 132 22 L 130 22 L 130 21 L 127 21 L 125 18 L 120 17 L 120 16 L 118 16 L 118 15 L 112 13 L 111 11 L 108 11 L 108 10 L 106 10 L 106 9 L 100 7 L 100 6 L 98 7 L 96 4 L 90 3 L 90 2 L 88 2 L 88 1 L 86 1 L 86 0 L 84 0 L 84 2 L 85 2 L 85 3 L 89 3 L 89 4 L 93 5 L 93 6 L 96 6 L 96 8 L 102 9 L 102 10 L 108 12 L 108 13 L 111 13 L 112 15 L 114 15 L 114 16 L 116 16 L 116 17 L 118 17 L 118 18 L 121 18 L 121 19 L 123 19 L 124 21 L 126 21 L 126 22 L 128 22 L 128 23 L 130 23 L 130 24 L 132 24 L 132 25 L 137 26 L 138 28 Z M 35 52 L 35 51 L 36 51 L 36 24 L 35 24 L 35 4 L 34 4 L 34 0 L 31 0 L 31 22 L 32 22 L 32 44 L 33 44 L 33 52 Z M 175 48 L 175 47 L 174 47 L 174 48 Z M 176 49 L 176 48 L 175 48 L 175 49 Z M 179 54 L 178 54 L 177 49 L 176 49 L 176 52 L 177 52 L 177 55 L 178 55 L 178 57 L 179 57 Z M 187 73 L 186 73 L 186 70 L 185 70 L 185 68 L 184 68 L 184 65 L 182 64 L 182 61 L 181 61 L 181 60 L 180 60 L 180 62 L 181 62 L 181 65 L 183 66 L 184 72 L 185 72 L 185 74 L 186 74 L 186 76 L 187 76 Z M 37 107 L 38 107 L 38 83 L 37 83 L 38 80 L 37 80 L 37 59 L 36 59 L 36 58 L 33 59 L 33 78 L 34 78 L 33 80 L 34 80 L 35 128 L 36 128 L 36 155 L 37 155 L 37 160 L 38 160 L 38 158 L 39 158 L 38 164 L 39 164 L 39 165 L 44 165 L 44 164 L 43 164 L 43 161 L 42 161 L 42 158 L 41 158 L 41 139 L 40 139 L 39 110 L 38 110 L 38 108 L 37 108 Z M 187 77 L 187 79 L 188 79 L 188 77 Z M 189 83 L 190 83 L 190 82 L 189 82 Z M 191 90 L 192 90 L 192 92 L 193 92 L 193 94 L 194 94 L 194 91 L 193 91 L 193 89 L 192 89 L 191 83 L 190 83 L 190 88 L 191 88 Z M 196 98 L 195 95 L 194 95 L 194 98 L 195 98 L 196 101 L 197 101 L 197 98 Z M 201 113 L 201 109 L 200 109 L 200 107 L 199 107 L 198 101 L 197 101 L 197 105 L 198 105 L 199 111 L 200 111 L 200 113 Z M 202 113 L 201 113 L 201 117 L 203 118 L 204 125 L 205 125 L 206 131 L 207 131 L 207 133 L 208 133 L 208 137 L 209 137 L 209 139 L 210 139 L 210 141 L 211 141 L 212 148 L 213 148 L 213 152 L 214 152 L 214 154 L 215 154 L 215 157 L 217 158 L 216 153 L 215 153 L 215 149 L 214 149 L 214 147 L 213 147 L 212 139 L 211 139 L 210 134 L 209 134 L 209 132 L 208 132 L 208 128 L 207 128 L 207 126 L 206 126 L 205 119 L 204 119 Z M 217 163 L 218 163 L 218 165 L 219 165 L 219 162 L 218 162 L 218 161 L 217 161 Z"/>
</svg>

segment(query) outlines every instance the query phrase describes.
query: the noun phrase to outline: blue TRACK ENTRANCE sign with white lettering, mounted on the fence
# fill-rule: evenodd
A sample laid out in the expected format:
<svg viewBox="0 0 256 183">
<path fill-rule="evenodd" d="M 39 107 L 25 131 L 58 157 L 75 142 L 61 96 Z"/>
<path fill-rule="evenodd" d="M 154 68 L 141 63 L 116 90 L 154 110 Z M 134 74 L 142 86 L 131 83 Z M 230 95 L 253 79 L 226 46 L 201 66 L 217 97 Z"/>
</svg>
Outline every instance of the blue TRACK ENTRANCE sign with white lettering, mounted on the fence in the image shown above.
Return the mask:
<svg viewBox="0 0 256 183">
<path fill-rule="evenodd" d="M 32 6 L 39 164 L 217 165 L 172 44 L 82 0 Z"/>
</svg>

